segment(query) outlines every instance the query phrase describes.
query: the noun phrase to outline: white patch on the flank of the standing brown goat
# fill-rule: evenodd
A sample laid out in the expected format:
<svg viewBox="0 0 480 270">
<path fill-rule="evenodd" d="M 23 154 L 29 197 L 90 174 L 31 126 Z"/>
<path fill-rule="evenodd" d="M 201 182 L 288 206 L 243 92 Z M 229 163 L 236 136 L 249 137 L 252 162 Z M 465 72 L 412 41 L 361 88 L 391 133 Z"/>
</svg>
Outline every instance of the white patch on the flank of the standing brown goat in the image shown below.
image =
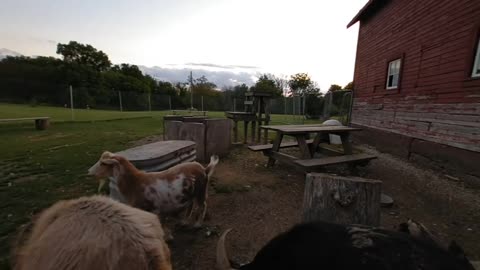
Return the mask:
<svg viewBox="0 0 480 270">
<path fill-rule="evenodd" d="M 182 203 L 183 182 L 185 174 L 179 174 L 173 181 L 157 179 L 153 184 L 145 187 L 145 198 L 153 203 L 155 208 L 161 209 L 164 213 L 176 211 L 184 207 L 187 202 Z"/>
</svg>

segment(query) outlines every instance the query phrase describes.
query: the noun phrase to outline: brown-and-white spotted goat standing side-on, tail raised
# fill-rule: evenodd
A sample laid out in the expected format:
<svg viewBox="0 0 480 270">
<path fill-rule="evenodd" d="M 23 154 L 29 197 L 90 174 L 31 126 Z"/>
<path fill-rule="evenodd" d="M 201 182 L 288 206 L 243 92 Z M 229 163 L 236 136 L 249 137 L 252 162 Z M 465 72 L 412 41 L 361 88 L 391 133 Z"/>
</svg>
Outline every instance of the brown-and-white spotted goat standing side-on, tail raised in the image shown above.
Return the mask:
<svg viewBox="0 0 480 270">
<path fill-rule="evenodd" d="M 96 178 L 113 177 L 128 204 L 158 215 L 170 215 L 187 209 L 182 223 L 187 224 L 194 209 L 195 227 L 200 227 L 207 211 L 208 182 L 218 163 L 210 158 L 203 167 L 198 162 L 186 162 L 161 172 L 143 172 L 125 157 L 105 151 L 88 174 Z"/>
</svg>

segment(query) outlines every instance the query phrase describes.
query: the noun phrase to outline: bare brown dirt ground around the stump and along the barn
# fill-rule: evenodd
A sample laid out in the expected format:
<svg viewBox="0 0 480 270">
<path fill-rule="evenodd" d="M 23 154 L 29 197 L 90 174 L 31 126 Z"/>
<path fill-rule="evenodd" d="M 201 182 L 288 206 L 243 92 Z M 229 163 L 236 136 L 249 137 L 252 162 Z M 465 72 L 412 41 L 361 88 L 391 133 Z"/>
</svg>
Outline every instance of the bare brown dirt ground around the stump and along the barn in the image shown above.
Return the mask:
<svg viewBox="0 0 480 270">
<path fill-rule="evenodd" d="M 461 179 L 362 149 L 378 159 L 359 174 L 382 180 L 382 192 L 395 200 L 392 207 L 382 208 L 382 227 L 396 229 L 413 218 L 441 239 L 457 241 L 471 260 L 480 259 L 479 190 L 465 188 Z M 218 234 L 227 228 L 233 228 L 227 239 L 230 258 L 246 263 L 271 238 L 300 222 L 304 175 L 282 164 L 265 168 L 265 163 L 261 153 L 241 146 L 221 159 L 209 190 L 205 226 L 174 230 L 174 269 L 214 269 Z"/>
</svg>

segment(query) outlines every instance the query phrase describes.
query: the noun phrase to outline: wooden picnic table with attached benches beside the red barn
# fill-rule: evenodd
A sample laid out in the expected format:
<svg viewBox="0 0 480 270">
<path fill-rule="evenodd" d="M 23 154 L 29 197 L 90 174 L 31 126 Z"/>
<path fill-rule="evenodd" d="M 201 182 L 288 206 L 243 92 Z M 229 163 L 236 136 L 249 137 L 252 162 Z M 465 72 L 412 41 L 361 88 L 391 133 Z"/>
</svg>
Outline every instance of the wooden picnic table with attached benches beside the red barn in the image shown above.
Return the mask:
<svg viewBox="0 0 480 270">
<path fill-rule="evenodd" d="M 367 163 L 376 158 L 374 155 L 366 153 L 353 153 L 350 142 L 350 133 L 360 131 L 360 128 L 348 126 L 327 126 L 321 124 L 314 125 L 269 125 L 261 126 L 266 130 L 276 132 L 273 144 L 249 146 L 252 151 L 263 151 L 268 156 L 267 166 L 271 167 L 278 160 L 283 163 L 293 165 L 303 171 L 314 171 L 326 165 L 332 164 L 358 164 Z M 310 139 L 310 134 L 314 134 Z M 316 157 L 321 143 L 329 143 L 329 135 L 340 136 L 342 140 L 343 151 L 327 150 L 329 156 Z M 292 136 L 296 139 L 294 142 L 282 142 L 285 136 Z M 282 148 L 298 147 L 300 158 L 280 152 Z M 324 151 L 325 153 L 325 151 Z"/>
</svg>

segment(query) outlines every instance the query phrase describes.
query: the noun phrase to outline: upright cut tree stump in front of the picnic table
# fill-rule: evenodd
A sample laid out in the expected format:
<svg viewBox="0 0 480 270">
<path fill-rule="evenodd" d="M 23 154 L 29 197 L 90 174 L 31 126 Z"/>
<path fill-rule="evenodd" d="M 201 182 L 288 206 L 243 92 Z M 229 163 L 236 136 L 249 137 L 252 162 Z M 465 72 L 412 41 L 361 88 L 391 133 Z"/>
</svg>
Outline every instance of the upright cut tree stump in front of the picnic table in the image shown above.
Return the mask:
<svg viewBox="0 0 480 270">
<path fill-rule="evenodd" d="M 378 226 L 381 186 L 378 180 L 309 173 L 303 198 L 303 221 Z"/>
</svg>

